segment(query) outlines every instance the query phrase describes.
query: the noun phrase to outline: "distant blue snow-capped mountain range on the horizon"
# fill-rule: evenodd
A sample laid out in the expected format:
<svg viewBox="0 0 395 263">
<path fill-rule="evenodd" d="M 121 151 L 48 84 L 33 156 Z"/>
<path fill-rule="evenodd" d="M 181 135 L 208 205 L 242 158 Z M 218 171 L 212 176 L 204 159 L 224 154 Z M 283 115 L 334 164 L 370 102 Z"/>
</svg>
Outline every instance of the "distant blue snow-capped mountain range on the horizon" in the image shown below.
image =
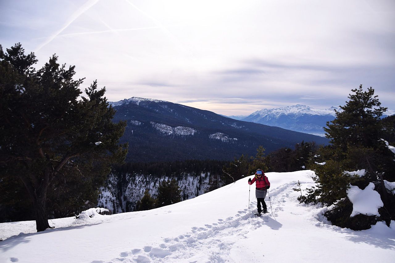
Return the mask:
<svg viewBox="0 0 395 263">
<path fill-rule="evenodd" d="M 323 127 L 326 127 L 326 122 L 335 119 L 335 109 L 339 111 L 340 107 L 314 109 L 297 104 L 276 109 L 261 109 L 248 116 L 229 116 L 229 118 L 325 136 Z M 393 114 L 395 111 L 389 110 L 384 117 Z"/>
</svg>

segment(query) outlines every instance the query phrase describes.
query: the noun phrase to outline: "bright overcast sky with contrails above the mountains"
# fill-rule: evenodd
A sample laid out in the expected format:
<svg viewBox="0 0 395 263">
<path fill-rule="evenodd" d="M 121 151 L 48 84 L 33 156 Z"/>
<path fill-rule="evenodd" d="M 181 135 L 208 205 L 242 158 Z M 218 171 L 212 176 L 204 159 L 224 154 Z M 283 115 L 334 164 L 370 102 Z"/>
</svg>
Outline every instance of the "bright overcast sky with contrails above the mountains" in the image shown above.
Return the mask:
<svg viewBox="0 0 395 263">
<path fill-rule="evenodd" d="M 224 115 L 344 105 L 372 86 L 395 110 L 394 0 L 0 0 L 0 44 L 56 53 L 109 101 Z"/>
</svg>

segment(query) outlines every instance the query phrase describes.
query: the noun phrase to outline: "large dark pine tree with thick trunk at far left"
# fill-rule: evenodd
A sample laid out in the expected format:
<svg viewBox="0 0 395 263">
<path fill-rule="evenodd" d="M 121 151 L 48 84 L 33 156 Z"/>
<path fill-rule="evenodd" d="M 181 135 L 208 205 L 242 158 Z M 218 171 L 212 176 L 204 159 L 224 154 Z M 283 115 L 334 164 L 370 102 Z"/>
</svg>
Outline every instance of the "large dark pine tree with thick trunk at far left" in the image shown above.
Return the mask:
<svg viewBox="0 0 395 263">
<path fill-rule="evenodd" d="M 111 163 L 124 159 L 119 138 L 126 124 L 111 121 L 115 110 L 96 81 L 79 99 L 83 79 L 73 79 L 75 66 L 60 66 L 53 55 L 36 71 L 34 53 L 25 55 L 20 44 L 0 50 L 0 181 L 12 176 L 23 183 L 43 231 L 50 227 L 48 193 L 60 179 L 76 175 L 73 186 L 89 177 L 100 182 Z"/>
</svg>

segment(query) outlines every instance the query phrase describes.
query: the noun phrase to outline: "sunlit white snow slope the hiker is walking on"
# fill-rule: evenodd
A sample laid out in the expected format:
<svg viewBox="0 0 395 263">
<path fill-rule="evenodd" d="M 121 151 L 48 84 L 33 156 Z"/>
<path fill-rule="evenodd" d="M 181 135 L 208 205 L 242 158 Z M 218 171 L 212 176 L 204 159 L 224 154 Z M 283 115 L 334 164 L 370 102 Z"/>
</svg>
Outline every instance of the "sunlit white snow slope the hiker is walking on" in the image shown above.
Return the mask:
<svg viewBox="0 0 395 263">
<path fill-rule="evenodd" d="M 254 191 L 248 204 L 246 177 L 158 209 L 50 220 L 56 228 L 39 233 L 34 221 L 2 223 L 0 262 L 393 262 L 394 221 L 333 226 L 327 207 L 299 204 L 292 190 L 297 180 L 313 186 L 312 171 L 266 175 L 273 213 L 265 216 L 253 214 Z"/>
</svg>

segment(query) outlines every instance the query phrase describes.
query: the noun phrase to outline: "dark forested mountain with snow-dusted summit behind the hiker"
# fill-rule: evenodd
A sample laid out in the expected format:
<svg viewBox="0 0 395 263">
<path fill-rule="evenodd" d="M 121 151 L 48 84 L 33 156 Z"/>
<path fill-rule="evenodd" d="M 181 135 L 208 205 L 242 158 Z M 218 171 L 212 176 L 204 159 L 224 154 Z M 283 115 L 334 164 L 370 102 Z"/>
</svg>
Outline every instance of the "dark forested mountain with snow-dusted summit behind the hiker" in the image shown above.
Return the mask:
<svg viewBox="0 0 395 263">
<path fill-rule="evenodd" d="M 328 139 L 253 122 L 234 120 L 176 103 L 144 98 L 110 102 L 114 121 L 126 120 L 122 142 L 129 143 L 127 161 L 189 159 L 233 160 L 254 156 L 263 145 L 270 153 L 301 141 L 327 144 Z"/>
</svg>

